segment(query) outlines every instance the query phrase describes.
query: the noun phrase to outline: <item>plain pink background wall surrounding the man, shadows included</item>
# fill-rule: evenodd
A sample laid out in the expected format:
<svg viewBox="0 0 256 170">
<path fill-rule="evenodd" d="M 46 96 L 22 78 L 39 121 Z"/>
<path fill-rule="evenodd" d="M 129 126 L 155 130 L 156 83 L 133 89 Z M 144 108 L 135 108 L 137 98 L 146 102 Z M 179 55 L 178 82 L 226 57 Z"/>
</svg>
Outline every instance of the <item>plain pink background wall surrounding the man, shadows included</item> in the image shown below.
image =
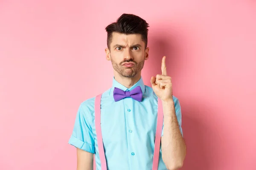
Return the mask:
<svg viewBox="0 0 256 170">
<path fill-rule="evenodd" d="M 168 57 L 187 144 L 182 170 L 255 170 L 254 0 L 2 0 L 0 169 L 76 169 L 67 144 L 76 111 L 111 87 L 105 26 L 122 13 L 150 24 L 146 85 Z"/>
</svg>

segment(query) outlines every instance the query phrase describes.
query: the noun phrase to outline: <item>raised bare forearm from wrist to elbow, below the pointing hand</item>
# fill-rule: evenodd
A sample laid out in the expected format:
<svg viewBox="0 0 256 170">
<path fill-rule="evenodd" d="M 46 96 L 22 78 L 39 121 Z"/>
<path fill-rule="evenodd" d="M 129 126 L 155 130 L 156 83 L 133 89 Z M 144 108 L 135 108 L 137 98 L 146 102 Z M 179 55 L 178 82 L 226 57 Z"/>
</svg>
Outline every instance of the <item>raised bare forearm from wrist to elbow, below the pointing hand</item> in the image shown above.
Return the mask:
<svg viewBox="0 0 256 170">
<path fill-rule="evenodd" d="M 180 133 L 175 104 L 173 100 L 163 101 L 164 127 L 162 157 L 169 170 L 177 170 L 183 166 L 186 156 L 186 145 Z"/>
</svg>

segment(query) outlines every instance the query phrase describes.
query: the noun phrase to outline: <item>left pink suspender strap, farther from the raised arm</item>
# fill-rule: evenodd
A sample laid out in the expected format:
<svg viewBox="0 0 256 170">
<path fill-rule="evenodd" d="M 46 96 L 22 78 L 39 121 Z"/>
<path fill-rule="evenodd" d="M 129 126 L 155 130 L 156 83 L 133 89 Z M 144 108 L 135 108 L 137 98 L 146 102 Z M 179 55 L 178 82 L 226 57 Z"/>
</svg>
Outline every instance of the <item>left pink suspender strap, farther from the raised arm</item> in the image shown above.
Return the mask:
<svg viewBox="0 0 256 170">
<path fill-rule="evenodd" d="M 101 123 L 100 123 L 101 96 L 102 94 L 99 94 L 96 96 L 96 99 L 95 99 L 95 106 L 94 106 L 95 107 L 95 128 L 96 128 L 96 135 L 98 140 L 99 159 L 101 162 L 101 169 L 107 170 L 106 158 L 105 158 L 103 141 L 102 141 Z"/>
</svg>

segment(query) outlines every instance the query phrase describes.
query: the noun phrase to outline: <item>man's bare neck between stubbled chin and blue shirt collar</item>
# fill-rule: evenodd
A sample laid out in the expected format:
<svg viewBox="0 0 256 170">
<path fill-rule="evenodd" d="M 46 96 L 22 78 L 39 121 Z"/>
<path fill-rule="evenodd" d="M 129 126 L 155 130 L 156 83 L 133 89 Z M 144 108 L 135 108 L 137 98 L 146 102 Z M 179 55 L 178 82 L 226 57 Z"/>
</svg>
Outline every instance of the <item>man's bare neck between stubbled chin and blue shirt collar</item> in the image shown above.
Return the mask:
<svg viewBox="0 0 256 170">
<path fill-rule="evenodd" d="M 121 85 L 125 86 L 126 88 L 131 88 L 131 86 L 133 86 L 140 80 L 141 74 L 139 72 L 134 77 L 123 77 L 122 75 L 115 72 L 114 77 L 115 80 Z"/>
</svg>

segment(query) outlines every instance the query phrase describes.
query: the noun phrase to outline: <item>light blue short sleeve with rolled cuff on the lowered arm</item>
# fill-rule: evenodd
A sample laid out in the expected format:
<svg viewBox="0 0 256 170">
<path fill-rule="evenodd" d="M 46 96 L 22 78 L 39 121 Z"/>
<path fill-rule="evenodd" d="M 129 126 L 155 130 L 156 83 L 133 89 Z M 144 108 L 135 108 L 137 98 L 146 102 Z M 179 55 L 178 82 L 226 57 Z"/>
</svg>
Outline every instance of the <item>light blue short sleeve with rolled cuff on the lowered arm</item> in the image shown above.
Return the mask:
<svg viewBox="0 0 256 170">
<path fill-rule="evenodd" d="M 73 133 L 70 136 L 69 144 L 90 153 L 95 153 L 93 132 L 85 113 L 86 106 L 80 105 L 76 114 Z"/>
</svg>

